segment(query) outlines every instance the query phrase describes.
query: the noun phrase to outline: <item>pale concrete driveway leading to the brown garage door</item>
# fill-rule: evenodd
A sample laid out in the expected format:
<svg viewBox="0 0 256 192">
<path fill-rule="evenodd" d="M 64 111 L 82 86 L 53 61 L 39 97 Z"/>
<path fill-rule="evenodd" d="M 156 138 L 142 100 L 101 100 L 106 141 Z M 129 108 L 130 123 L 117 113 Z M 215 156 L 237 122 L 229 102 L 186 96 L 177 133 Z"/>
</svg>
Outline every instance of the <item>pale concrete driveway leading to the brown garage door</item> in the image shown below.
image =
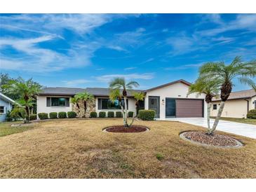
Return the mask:
<svg viewBox="0 0 256 192">
<path fill-rule="evenodd" d="M 198 126 L 207 128 L 206 118 L 165 118 L 160 120 L 180 121 L 182 123 L 189 123 L 192 125 L 198 125 Z M 213 122 L 214 122 L 214 119 L 210 119 L 211 126 L 213 126 Z M 245 137 L 256 139 L 256 125 L 220 120 L 219 124 L 217 125 L 217 130 L 230 132 L 236 135 L 242 135 Z"/>
</svg>

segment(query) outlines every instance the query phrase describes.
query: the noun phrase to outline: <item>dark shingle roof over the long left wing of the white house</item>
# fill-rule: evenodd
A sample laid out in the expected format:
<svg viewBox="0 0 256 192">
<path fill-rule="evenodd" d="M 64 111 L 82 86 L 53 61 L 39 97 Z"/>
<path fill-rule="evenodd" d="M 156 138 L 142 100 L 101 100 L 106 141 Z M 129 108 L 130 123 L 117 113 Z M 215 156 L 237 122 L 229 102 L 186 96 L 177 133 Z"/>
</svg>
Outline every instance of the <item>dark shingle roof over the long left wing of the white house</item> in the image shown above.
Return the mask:
<svg viewBox="0 0 256 192">
<path fill-rule="evenodd" d="M 109 88 L 44 88 L 39 95 L 68 95 L 73 96 L 76 93 L 90 92 L 94 96 L 109 96 Z M 130 90 L 128 91 L 128 97 L 132 96 L 132 92 L 142 92 L 142 90 Z"/>
</svg>

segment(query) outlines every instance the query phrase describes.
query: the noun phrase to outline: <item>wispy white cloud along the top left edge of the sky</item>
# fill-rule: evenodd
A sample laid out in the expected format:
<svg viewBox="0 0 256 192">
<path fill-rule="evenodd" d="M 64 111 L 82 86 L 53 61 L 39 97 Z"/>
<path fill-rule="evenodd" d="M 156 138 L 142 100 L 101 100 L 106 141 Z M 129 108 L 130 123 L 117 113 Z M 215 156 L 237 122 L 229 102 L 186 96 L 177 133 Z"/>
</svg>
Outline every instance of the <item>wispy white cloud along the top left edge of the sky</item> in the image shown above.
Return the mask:
<svg viewBox="0 0 256 192">
<path fill-rule="evenodd" d="M 34 30 L 36 25 L 38 32 L 46 30 L 55 33 L 69 29 L 78 34 L 85 34 L 111 21 L 112 16 L 109 14 L 22 14 L 1 16 L 0 20 L 5 29 L 12 29 L 11 26 L 15 26 L 20 29 Z"/>
</svg>

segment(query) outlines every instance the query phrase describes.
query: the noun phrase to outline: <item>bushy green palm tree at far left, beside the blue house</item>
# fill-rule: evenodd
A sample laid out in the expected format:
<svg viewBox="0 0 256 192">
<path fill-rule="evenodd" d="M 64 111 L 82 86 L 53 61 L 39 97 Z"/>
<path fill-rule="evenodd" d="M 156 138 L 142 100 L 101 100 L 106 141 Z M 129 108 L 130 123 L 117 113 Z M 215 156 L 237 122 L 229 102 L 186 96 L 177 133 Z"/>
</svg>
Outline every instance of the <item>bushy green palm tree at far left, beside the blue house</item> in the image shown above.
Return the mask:
<svg viewBox="0 0 256 192">
<path fill-rule="evenodd" d="M 22 78 L 11 80 L 6 85 L 3 85 L 8 92 L 15 92 L 20 95 L 20 102 L 26 111 L 25 123 L 29 123 L 30 109 L 36 100 L 36 95 L 41 90 L 41 85 L 32 81 L 32 78 L 25 81 Z"/>
</svg>

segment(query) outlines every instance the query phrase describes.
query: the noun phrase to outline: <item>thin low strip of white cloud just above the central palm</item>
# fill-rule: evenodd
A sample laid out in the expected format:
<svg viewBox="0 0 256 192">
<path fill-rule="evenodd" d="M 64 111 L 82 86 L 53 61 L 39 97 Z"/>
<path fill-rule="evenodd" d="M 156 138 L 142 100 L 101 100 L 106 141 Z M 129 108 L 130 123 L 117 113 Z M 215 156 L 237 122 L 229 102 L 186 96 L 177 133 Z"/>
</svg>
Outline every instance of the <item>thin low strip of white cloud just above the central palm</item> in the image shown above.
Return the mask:
<svg viewBox="0 0 256 192">
<path fill-rule="evenodd" d="M 104 75 L 104 76 L 96 76 L 95 78 L 97 81 L 100 82 L 109 82 L 113 78 L 116 77 L 122 77 L 126 78 L 126 80 L 133 80 L 133 79 L 151 79 L 154 78 L 154 74 L 152 73 L 145 73 L 145 74 L 109 74 L 109 75 Z"/>
</svg>

